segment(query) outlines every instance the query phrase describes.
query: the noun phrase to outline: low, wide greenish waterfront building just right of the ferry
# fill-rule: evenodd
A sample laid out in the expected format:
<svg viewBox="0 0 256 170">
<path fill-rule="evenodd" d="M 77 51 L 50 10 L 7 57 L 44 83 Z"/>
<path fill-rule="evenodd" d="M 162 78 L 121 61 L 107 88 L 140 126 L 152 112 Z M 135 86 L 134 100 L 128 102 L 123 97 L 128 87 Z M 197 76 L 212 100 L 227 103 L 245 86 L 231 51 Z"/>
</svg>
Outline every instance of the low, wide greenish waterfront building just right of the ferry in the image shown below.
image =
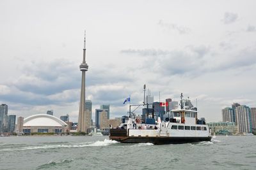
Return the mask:
<svg viewBox="0 0 256 170">
<path fill-rule="evenodd" d="M 235 122 L 210 122 L 207 124 L 211 129 L 211 134 L 238 134 L 238 125 Z"/>
</svg>

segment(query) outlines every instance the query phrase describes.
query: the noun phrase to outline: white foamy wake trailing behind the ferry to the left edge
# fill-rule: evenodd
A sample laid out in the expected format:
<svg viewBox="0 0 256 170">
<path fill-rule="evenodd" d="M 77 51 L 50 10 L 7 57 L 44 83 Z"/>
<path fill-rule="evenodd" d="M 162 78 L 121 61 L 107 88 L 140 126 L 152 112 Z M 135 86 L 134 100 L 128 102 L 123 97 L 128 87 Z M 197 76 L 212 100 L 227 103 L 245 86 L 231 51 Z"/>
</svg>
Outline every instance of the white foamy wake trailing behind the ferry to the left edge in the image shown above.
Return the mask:
<svg viewBox="0 0 256 170">
<path fill-rule="evenodd" d="M 0 152 L 6 151 L 22 151 L 22 150 L 38 150 L 38 149 L 55 149 L 55 148 L 83 148 L 88 146 L 109 146 L 118 143 L 118 141 L 112 141 L 109 139 L 104 139 L 104 141 L 95 141 L 87 143 L 78 143 L 76 145 L 41 145 L 41 146 L 24 146 L 19 148 L 4 148 L 0 149 Z"/>
</svg>

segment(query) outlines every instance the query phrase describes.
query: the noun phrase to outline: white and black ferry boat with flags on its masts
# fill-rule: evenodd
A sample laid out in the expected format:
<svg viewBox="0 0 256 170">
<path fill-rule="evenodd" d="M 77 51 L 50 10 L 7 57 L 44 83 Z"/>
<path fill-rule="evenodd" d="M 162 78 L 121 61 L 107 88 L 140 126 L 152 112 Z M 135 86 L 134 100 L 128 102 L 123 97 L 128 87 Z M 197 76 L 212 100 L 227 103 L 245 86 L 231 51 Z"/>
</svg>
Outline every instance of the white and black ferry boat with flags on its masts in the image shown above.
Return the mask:
<svg viewBox="0 0 256 170">
<path fill-rule="evenodd" d="M 194 143 L 211 141 L 210 130 L 203 120 L 198 120 L 197 108 L 188 108 L 185 101 L 180 100 L 180 108 L 170 110 L 162 122 L 153 113 L 147 113 L 144 118 L 136 117 L 131 112 L 129 118 L 115 129 L 110 129 L 109 139 L 121 143 L 153 143 L 154 145 Z M 145 103 L 145 102 L 144 102 Z M 143 104 L 144 106 L 145 104 Z"/>
</svg>

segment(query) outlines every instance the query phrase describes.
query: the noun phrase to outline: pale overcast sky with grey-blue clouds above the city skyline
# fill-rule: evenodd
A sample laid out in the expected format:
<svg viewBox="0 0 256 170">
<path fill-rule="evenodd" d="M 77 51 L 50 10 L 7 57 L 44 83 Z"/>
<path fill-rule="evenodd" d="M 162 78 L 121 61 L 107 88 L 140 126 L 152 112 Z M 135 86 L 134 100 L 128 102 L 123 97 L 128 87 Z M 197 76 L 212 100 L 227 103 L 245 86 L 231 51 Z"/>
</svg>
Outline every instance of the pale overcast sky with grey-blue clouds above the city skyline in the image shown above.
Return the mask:
<svg viewBox="0 0 256 170">
<path fill-rule="evenodd" d="M 0 1 L 0 103 L 28 117 L 77 122 L 86 30 L 86 99 L 110 117 L 123 104 L 180 93 L 198 117 L 232 103 L 256 107 L 255 1 Z M 159 97 L 160 92 L 160 97 Z"/>
</svg>

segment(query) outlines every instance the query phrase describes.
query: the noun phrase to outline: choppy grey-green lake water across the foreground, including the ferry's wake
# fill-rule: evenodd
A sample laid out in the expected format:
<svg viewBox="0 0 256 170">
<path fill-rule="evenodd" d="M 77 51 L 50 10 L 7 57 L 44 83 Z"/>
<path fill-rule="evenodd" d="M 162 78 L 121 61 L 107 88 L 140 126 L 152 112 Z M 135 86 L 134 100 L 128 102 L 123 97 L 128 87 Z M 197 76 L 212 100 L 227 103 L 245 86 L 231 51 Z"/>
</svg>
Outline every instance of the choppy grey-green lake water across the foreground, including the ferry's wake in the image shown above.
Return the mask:
<svg viewBox="0 0 256 170">
<path fill-rule="evenodd" d="M 2 137 L 0 169 L 256 169 L 256 136 L 180 145 L 123 144 L 108 136 Z"/>
</svg>

